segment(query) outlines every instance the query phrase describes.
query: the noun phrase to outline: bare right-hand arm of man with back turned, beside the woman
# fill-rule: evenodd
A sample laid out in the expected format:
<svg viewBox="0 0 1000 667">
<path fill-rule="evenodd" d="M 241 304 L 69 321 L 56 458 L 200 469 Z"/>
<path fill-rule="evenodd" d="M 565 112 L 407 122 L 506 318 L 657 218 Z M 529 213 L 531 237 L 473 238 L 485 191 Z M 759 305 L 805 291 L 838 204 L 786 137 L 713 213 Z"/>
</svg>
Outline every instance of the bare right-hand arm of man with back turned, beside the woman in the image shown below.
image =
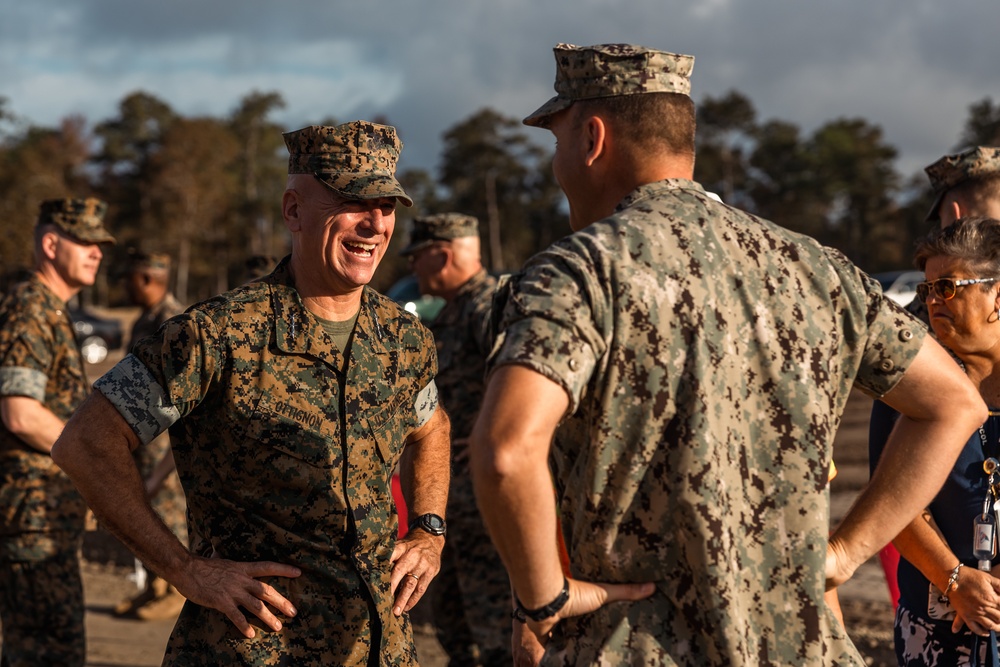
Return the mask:
<svg viewBox="0 0 1000 667">
<path fill-rule="evenodd" d="M 930 504 L 987 416 L 979 392 L 929 337 L 882 401 L 902 416 L 871 481 L 830 538 L 828 588 L 846 581 Z"/>
</svg>

